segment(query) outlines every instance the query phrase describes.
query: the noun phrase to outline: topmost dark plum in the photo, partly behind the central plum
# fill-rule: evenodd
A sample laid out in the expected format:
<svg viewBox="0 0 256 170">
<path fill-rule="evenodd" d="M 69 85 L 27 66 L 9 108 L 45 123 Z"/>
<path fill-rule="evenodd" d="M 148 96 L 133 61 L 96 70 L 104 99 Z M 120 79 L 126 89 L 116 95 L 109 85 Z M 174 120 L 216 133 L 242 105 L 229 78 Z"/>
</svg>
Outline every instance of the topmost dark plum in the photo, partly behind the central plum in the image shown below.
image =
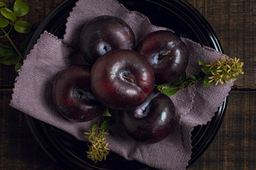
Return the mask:
<svg viewBox="0 0 256 170">
<path fill-rule="evenodd" d="M 90 65 L 108 51 L 134 47 L 134 33 L 121 18 L 101 15 L 90 20 L 81 31 L 80 51 Z"/>
</svg>

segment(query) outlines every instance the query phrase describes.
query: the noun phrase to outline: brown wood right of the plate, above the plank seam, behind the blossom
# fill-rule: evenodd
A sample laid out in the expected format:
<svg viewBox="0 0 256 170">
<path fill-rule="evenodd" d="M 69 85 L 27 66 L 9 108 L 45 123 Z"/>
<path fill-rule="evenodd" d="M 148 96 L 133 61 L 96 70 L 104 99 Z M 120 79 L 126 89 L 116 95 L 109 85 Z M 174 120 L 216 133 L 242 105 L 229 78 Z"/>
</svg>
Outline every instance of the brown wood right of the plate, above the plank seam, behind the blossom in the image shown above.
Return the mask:
<svg viewBox="0 0 256 170">
<path fill-rule="evenodd" d="M 256 88 L 256 1 L 188 0 L 212 26 L 226 55 L 245 62 L 236 88 Z"/>
</svg>

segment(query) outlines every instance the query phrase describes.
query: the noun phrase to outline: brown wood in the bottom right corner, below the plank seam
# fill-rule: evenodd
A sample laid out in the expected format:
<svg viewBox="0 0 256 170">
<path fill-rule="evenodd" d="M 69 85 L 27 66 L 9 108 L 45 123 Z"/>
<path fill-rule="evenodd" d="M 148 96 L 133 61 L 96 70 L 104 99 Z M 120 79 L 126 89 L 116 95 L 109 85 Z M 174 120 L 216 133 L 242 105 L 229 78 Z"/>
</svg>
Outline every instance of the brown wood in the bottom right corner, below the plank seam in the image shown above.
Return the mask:
<svg viewBox="0 0 256 170">
<path fill-rule="evenodd" d="M 254 170 L 256 92 L 232 91 L 225 119 L 211 146 L 188 170 Z"/>
</svg>

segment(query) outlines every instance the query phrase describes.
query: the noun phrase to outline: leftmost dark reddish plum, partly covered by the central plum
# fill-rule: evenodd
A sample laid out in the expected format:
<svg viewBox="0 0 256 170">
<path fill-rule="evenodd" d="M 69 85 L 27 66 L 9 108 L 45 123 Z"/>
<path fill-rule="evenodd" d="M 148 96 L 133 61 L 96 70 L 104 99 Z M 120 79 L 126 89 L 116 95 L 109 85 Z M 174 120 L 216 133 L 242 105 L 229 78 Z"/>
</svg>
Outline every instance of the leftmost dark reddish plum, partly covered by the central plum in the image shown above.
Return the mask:
<svg viewBox="0 0 256 170">
<path fill-rule="evenodd" d="M 70 121 L 89 121 L 101 114 L 105 108 L 90 86 L 89 66 L 74 65 L 61 71 L 54 80 L 53 102 L 63 117 Z"/>
</svg>

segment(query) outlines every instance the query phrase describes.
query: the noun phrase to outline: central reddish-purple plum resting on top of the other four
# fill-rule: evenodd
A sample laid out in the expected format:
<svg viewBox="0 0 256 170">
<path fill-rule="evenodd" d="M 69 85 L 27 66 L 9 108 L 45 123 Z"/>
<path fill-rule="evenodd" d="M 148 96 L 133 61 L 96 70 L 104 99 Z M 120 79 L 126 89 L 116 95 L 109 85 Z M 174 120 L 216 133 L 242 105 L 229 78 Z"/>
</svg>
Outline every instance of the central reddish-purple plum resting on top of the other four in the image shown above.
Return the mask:
<svg viewBox="0 0 256 170">
<path fill-rule="evenodd" d="M 148 62 L 132 50 L 106 53 L 92 66 L 90 82 L 99 101 L 116 110 L 136 108 L 153 91 L 155 74 Z"/>
</svg>

